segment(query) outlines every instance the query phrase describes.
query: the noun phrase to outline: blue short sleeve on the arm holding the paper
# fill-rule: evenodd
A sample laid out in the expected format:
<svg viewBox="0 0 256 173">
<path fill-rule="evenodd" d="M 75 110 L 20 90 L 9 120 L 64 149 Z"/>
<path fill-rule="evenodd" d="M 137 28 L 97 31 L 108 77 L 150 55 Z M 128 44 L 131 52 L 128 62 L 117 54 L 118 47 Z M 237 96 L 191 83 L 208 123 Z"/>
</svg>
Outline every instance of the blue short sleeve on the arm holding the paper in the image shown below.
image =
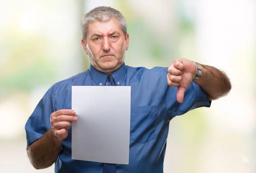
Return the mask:
<svg viewBox="0 0 256 173">
<path fill-rule="evenodd" d="M 51 128 L 50 115 L 55 111 L 55 99 L 50 88 L 39 101 L 25 125 L 27 146 L 41 138 Z"/>
</svg>

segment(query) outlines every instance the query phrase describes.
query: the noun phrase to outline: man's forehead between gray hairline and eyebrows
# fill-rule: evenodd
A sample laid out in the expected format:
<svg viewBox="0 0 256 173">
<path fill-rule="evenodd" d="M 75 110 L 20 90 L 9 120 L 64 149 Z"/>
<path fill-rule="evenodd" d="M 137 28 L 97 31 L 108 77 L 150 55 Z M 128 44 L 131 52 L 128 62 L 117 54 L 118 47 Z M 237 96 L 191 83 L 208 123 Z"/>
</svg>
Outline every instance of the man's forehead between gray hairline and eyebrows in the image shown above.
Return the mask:
<svg viewBox="0 0 256 173">
<path fill-rule="evenodd" d="M 88 25 L 88 36 L 92 34 L 108 34 L 109 32 L 122 32 L 118 20 L 111 19 L 108 22 L 93 22 Z"/>
</svg>

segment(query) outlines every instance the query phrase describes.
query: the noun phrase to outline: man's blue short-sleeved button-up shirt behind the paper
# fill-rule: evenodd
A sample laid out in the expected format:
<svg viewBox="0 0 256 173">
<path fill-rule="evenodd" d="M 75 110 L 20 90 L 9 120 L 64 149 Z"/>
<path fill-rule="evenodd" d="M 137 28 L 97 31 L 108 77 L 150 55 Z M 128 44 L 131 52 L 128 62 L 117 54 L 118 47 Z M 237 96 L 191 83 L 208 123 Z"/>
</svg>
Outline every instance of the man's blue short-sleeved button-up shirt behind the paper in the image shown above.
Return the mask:
<svg viewBox="0 0 256 173">
<path fill-rule="evenodd" d="M 183 103 L 178 103 L 177 87 L 167 85 L 167 74 L 167 67 L 134 68 L 125 63 L 111 74 L 117 86 L 131 86 L 129 164 L 117 164 L 116 173 L 163 173 L 170 120 L 195 108 L 210 107 L 205 91 L 194 82 L 186 89 Z M 90 65 L 87 71 L 52 85 L 26 122 L 27 145 L 51 128 L 52 112 L 71 109 L 71 86 L 104 87 L 107 76 Z M 55 162 L 55 173 L 102 173 L 102 163 L 71 159 L 71 128 Z"/>
</svg>

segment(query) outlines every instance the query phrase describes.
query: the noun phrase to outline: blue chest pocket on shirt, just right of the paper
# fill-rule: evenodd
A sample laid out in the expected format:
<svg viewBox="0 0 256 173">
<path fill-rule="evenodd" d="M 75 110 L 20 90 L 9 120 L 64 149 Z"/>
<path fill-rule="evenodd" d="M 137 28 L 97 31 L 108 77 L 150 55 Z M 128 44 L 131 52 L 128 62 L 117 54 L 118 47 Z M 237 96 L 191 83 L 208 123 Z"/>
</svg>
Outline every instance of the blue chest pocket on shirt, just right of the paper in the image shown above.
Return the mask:
<svg viewBox="0 0 256 173">
<path fill-rule="evenodd" d="M 157 106 L 131 108 L 130 139 L 146 143 L 156 138 Z"/>
</svg>

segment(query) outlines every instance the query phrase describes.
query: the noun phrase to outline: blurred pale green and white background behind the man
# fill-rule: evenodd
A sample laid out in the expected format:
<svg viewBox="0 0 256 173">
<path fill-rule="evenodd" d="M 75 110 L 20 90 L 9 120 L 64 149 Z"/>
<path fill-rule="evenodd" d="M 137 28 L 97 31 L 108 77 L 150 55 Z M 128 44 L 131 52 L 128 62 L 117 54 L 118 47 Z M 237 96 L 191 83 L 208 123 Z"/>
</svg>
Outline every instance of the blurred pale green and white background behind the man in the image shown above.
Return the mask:
<svg viewBox="0 0 256 173">
<path fill-rule="evenodd" d="M 170 122 L 164 172 L 255 173 L 255 0 L 1 0 L 0 172 L 53 172 L 29 163 L 24 125 L 51 85 L 89 67 L 80 21 L 96 6 L 124 14 L 127 65 L 187 58 L 231 79 L 230 94 L 211 108 Z"/>
</svg>

